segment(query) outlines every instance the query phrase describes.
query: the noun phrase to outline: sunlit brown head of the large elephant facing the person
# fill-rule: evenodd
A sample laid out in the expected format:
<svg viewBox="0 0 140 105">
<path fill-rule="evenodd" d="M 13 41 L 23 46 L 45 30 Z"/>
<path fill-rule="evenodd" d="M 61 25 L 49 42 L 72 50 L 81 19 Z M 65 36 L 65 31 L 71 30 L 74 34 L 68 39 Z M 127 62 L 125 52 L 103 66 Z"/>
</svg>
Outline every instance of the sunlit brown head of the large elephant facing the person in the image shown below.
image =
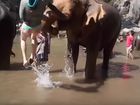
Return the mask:
<svg viewBox="0 0 140 105">
<path fill-rule="evenodd" d="M 48 4 L 44 12 L 45 27 L 50 30 L 50 26 L 55 21 L 67 21 L 71 17 L 73 0 L 53 0 Z M 49 31 L 48 30 L 48 31 Z"/>
</svg>

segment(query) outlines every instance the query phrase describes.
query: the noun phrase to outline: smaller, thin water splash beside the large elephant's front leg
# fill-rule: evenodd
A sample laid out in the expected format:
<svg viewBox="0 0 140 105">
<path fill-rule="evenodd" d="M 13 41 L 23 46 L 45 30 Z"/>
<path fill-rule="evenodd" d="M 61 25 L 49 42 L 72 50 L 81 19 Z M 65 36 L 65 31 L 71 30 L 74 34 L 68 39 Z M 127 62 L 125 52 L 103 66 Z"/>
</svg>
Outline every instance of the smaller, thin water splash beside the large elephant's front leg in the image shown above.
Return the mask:
<svg viewBox="0 0 140 105">
<path fill-rule="evenodd" d="M 66 77 L 72 78 L 74 76 L 74 64 L 72 57 L 69 56 L 64 60 L 65 60 L 64 72 L 66 73 Z"/>
</svg>

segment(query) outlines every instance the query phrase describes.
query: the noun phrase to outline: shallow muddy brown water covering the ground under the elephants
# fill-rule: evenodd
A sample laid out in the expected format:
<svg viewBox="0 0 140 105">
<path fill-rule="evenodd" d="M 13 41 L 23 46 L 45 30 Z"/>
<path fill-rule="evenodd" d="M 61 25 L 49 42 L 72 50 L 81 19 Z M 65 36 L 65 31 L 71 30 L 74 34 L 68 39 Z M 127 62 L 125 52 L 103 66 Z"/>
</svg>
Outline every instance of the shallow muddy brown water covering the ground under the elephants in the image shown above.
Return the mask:
<svg viewBox="0 0 140 105">
<path fill-rule="evenodd" d="M 16 37 L 13 46 L 16 57 L 11 57 L 11 70 L 0 71 L 0 105 L 140 105 L 140 51 L 134 52 L 133 61 L 127 60 L 125 43 L 116 43 L 109 79 L 97 89 L 95 83 L 84 82 L 84 51 L 79 55 L 78 73 L 72 79 L 62 73 L 65 50 L 65 38 L 52 39 L 50 75 L 63 85 L 54 89 L 37 87 L 34 71 L 22 68 L 19 37 Z M 99 58 L 97 70 L 101 61 Z"/>
</svg>

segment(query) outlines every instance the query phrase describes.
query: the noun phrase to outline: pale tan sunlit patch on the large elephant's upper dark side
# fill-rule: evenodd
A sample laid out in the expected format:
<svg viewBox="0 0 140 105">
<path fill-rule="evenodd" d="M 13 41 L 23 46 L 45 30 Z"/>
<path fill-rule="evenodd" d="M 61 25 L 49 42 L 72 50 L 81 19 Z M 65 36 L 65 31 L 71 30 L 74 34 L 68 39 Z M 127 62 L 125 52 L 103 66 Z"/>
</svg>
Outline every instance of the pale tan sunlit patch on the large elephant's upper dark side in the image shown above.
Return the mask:
<svg viewBox="0 0 140 105">
<path fill-rule="evenodd" d="M 96 23 L 98 20 L 102 19 L 104 15 L 105 11 L 102 8 L 102 4 L 96 6 L 91 5 L 86 13 L 87 20 L 85 25 L 88 25 L 91 19 Z"/>
</svg>

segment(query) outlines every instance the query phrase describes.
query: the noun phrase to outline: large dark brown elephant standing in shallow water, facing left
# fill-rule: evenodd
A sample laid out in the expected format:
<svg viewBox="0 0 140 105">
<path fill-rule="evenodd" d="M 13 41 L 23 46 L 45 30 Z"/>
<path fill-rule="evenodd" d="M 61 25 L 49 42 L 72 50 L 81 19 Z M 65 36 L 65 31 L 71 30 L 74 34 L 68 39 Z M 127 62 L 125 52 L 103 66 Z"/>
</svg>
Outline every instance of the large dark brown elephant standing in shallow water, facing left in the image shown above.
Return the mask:
<svg viewBox="0 0 140 105">
<path fill-rule="evenodd" d="M 74 72 L 79 54 L 79 45 L 86 47 L 85 80 L 106 80 L 109 58 L 121 29 L 121 16 L 117 9 L 100 0 L 53 0 L 44 15 L 44 30 L 53 30 L 57 21 L 58 30 L 67 33 L 67 58 L 73 62 Z M 98 52 L 103 50 L 103 63 L 96 70 Z"/>
</svg>

